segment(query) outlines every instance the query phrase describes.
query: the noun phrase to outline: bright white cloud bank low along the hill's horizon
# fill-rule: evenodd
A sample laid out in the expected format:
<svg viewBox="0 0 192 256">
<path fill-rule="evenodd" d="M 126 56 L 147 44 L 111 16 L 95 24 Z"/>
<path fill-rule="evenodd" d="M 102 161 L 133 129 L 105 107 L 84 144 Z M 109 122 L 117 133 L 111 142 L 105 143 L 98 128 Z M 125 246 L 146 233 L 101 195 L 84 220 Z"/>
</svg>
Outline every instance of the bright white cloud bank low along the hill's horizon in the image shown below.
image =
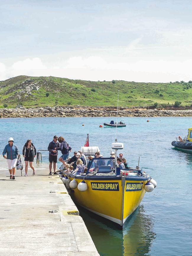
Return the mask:
<svg viewBox="0 0 192 256">
<path fill-rule="evenodd" d="M 136 82 L 169 82 L 192 80 L 192 59 L 185 61 L 139 60 L 114 57 L 74 56 L 54 64 L 40 58 L 25 59 L 6 67 L 0 62 L 0 80 L 18 75 L 56 76 L 81 80 L 126 80 Z"/>
</svg>

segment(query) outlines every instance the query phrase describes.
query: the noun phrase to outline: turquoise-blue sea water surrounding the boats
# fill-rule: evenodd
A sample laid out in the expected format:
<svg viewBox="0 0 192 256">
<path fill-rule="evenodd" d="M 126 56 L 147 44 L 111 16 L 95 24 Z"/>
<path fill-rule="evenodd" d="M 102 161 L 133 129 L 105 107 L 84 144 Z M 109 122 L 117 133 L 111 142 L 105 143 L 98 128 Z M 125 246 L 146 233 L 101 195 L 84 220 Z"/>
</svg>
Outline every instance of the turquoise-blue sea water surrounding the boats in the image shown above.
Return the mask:
<svg viewBox="0 0 192 256">
<path fill-rule="evenodd" d="M 147 122 L 149 119 L 149 122 Z M 21 152 L 31 138 L 37 149 L 47 149 L 53 135 L 63 136 L 79 150 L 87 133 L 91 146 L 99 146 L 102 155 L 110 154 L 114 128 L 99 128 L 111 118 L 10 118 L 0 119 L 0 151 L 8 137 L 15 139 Z M 115 119 L 114 119 L 115 120 Z M 146 193 L 139 208 L 126 222 L 123 231 L 95 215 L 81 211 L 100 255 L 191 255 L 192 246 L 192 155 L 174 150 L 171 141 L 184 137 L 192 127 L 190 117 L 123 118 L 126 127 L 118 128 L 117 138 L 124 143 L 121 151 L 130 166 L 140 156 L 140 168 L 157 181 L 157 188 Z M 82 126 L 84 124 L 84 126 Z M 71 153 L 71 155 L 73 155 Z M 7 168 L 1 157 L 1 169 Z M 48 154 L 43 152 L 43 164 Z M 39 169 L 40 165 L 35 164 Z M 48 165 L 47 165 L 48 166 Z M 113 200 L 113 199 L 112 199 Z"/>
</svg>

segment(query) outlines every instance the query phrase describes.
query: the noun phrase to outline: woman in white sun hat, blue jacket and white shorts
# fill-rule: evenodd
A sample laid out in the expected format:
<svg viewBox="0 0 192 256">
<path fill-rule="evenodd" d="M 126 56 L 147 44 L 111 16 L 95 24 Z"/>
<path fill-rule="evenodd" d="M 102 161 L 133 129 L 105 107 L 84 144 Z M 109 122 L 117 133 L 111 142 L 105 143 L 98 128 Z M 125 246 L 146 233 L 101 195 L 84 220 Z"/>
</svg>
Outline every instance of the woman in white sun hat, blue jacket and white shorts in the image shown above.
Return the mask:
<svg viewBox="0 0 192 256">
<path fill-rule="evenodd" d="M 9 137 L 8 144 L 3 150 L 3 157 L 7 160 L 10 179 L 15 179 L 15 168 L 17 163 L 17 156 L 19 155 L 19 150 L 13 142 L 14 139 Z"/>
</svg>

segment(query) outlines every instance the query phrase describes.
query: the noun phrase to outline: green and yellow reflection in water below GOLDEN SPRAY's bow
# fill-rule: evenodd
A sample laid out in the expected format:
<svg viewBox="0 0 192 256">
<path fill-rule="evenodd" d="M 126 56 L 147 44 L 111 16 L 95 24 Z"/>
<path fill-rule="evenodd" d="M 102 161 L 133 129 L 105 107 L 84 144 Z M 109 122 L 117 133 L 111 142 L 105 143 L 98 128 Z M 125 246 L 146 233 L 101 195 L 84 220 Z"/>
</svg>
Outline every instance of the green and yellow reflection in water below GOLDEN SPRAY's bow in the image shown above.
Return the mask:
<svg viewBox="0 0 192 256">
<path fill-rule="evenodd" d="M 79 211 L 100 255 L 150 255 L 156 234 L 153 219 L 145 214 L 142 205 L 126 221 L 123 230 L 87 210 L 79 208 Z"/>
</svg>

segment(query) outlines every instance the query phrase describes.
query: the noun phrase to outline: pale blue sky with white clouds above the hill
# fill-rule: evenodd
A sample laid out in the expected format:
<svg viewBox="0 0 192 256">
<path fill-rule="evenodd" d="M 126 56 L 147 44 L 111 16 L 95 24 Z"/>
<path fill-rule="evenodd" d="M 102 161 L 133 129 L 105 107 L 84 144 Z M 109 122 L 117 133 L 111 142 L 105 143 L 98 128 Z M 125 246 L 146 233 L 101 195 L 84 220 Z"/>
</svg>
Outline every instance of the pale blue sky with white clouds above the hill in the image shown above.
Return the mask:
<svg viewBox="0 0 192 256">
<path fill-rule="evenodd" d="M 0 80 L 192 80 L 192 1 L 1 0 Z"/>
</svg>

